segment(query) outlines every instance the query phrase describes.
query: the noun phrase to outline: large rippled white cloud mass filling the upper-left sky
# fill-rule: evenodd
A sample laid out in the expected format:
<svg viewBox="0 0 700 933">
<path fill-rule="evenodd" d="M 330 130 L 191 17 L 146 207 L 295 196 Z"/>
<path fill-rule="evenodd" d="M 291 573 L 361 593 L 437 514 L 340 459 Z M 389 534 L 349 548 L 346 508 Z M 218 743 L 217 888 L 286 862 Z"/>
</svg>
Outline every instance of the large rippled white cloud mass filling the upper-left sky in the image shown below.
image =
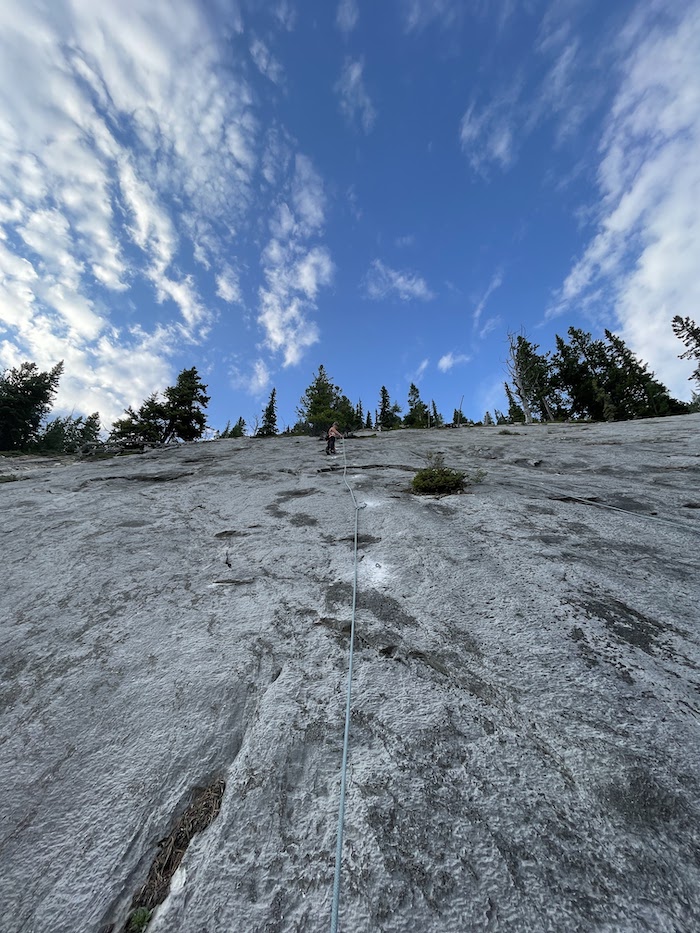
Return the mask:
<svg viewBox="0 0 700 933">
<path fill-rule="evenodd" d="M 224 76 L 193 2 L 176 17 L 147 0 L 56 0 L 50 17 L 35 0 L 4 4 L 0 81 L 15 88 L 0 102 L 1 362 L 65 359 L 59 405 L 112 419 L 211 327 L 180 256 L 221 270 L 249 208 L 252 92 L 235 70 Z M 144 286 L 163 306 L 150 332 L 129 324 Z"/>
</svg>

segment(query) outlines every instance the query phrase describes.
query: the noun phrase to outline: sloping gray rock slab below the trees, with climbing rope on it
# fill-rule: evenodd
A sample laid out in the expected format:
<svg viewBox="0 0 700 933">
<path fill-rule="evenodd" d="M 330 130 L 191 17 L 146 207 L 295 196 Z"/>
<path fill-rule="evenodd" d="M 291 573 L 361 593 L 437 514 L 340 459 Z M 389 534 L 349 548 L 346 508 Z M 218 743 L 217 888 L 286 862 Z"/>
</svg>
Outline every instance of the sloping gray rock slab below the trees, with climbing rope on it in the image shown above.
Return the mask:
<svg viewBox="0 0 700 933">
<path fill-rule="evenodd" d="M 699 429 L 345 442 L 341 929 L 700 928 Z M 414 497 L 430 451 L 487 475 Z M 217 777 L 149 931 L 329 928 L 342 466 L 304 438 L 0 461 L 3 931 L 121 930 Z"/>
</svg>

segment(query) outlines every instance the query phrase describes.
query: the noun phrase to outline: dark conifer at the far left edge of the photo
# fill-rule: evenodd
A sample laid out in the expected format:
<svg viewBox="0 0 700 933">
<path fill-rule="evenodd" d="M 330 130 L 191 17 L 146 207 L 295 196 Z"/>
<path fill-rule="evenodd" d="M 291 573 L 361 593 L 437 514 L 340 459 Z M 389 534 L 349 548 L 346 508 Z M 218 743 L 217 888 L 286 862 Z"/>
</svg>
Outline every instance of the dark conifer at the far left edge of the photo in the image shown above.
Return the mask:
<svg viewBox="0 0 700 933">
<path fill-rule="evenodd" d="M 0 450 L 26 450 L 51 409 L 63 373 L 63 362 L 48 372 L 22 363 L 0 375 Z"/>
</svg>

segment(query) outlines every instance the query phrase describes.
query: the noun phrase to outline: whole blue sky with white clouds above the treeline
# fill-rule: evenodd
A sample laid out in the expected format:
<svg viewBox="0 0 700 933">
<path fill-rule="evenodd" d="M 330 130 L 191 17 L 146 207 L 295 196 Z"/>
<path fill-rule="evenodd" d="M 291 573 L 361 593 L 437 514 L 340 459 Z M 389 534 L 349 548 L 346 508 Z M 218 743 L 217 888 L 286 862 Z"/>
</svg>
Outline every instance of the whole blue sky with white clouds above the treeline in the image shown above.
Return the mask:
<svg viewBox="0 0 700 933">
<path fill-rule="evenodd" d="M 103 422 L 196 366 L 504 408 L 507 335 L 619 333 L 681 398 L 698 0 L 4 0 L 0 366 Z"/>
</svg>

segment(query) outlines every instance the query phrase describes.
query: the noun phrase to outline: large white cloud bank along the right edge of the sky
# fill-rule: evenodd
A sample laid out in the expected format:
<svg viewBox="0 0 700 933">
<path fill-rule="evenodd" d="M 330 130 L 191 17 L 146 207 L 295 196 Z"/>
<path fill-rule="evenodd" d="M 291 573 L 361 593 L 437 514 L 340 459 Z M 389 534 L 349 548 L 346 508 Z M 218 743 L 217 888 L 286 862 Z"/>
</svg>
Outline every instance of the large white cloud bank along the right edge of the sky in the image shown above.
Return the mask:
<svg viewBox="0 0 700 933">
<path fill-rule="evenodd" d="M 670 321 L 700 307 L 700 4 L 672 26 L 640 11 L 623 32 L 621 83 L 598 169 L 597 231 L 549 316 L 605 300 L 623 339 L 677 395 L 690 365 Z"/>
</svg>

